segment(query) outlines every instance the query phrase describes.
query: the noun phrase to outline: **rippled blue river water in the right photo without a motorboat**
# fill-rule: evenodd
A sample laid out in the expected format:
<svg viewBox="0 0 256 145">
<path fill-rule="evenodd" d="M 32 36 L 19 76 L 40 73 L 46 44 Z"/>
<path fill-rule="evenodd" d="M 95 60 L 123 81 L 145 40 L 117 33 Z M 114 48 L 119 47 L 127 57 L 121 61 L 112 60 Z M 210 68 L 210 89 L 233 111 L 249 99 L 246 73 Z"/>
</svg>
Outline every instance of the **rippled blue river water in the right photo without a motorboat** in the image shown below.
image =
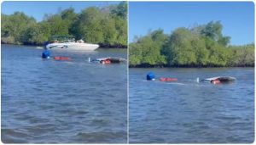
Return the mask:
<svg viewBox="0 0 256 145">
<path fill-rule="evenodd" d="M 176 77 L 177 82 L 145 81 Z M 228 75 L 234 83 L 197 83 Z M 132 143 L 252 143 L 254 68 L 130 69 L 129 140 Z"/>
</svg>

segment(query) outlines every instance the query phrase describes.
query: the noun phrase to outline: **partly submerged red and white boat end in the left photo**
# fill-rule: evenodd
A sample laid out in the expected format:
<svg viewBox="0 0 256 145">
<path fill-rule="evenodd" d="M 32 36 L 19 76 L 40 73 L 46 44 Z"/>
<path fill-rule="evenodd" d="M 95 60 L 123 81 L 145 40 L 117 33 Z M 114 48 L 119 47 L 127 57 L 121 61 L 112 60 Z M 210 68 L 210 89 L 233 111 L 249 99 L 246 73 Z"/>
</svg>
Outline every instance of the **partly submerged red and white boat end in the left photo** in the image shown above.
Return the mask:
<svg viewBox="0 0 256 145">
<path fill-rule="evenodd" d="M 100 64 L 119 64 L 124 63 L 126 59 L 117 58 L 117 57 L 108 57 L 100 59 L 88 59 L 89 62 L 100 63 Z"/>
</svg>

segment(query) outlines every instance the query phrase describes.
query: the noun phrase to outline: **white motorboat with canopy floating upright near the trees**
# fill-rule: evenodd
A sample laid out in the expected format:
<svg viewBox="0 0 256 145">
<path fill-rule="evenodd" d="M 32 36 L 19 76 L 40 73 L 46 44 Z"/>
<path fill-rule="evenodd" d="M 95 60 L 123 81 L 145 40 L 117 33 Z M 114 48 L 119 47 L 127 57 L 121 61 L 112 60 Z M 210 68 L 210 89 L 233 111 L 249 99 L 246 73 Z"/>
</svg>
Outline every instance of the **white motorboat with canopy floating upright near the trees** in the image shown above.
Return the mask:
<svg viewBox="0 0 256 145">
<path fill-rule="evenodd" d="M 75 41 L 74 38 L 67 38 L 65 36 L 55 37 L 54 41 L 47 44 L 46 48 L 67 48 L 70 50 L 86 50 L 93 51 L 100 47 L 98 44 L 85 43 L 83 40 Z"/>
</svg>

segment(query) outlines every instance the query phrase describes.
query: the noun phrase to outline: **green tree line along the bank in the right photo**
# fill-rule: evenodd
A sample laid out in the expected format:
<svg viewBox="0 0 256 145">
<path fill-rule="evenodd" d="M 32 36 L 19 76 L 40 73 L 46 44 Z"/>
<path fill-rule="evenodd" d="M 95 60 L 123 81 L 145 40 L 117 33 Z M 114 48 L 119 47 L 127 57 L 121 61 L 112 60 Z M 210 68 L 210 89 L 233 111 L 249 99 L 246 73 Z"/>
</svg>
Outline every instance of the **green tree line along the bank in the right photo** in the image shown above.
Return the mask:
<svg viewBox="0 0 256 145">
<path fill-rule="evenodd" d="M 220 21 L 193 28 L 180 27 L 136 37 L 129 45 L 130 67 L 254 66 L 254 44 L 232 46 Z"/>
</svg>

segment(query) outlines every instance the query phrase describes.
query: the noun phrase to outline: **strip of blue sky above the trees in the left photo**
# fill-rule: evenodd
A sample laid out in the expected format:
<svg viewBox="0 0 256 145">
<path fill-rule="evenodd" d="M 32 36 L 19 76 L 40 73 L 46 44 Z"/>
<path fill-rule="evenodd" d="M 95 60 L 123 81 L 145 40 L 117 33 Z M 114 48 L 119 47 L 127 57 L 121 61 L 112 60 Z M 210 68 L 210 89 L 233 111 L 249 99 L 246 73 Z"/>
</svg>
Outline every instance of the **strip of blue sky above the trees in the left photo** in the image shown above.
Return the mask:
<svg viewBox="0 0 256 145">
<path fill-rule="evenodd" d="M 76 13 L 79 13 L 82 9 L 91 6 L 105 7 L 110 4 L 117 4 L 119 2 L 108 1 L 5 1 L 2 3 L 3 14 L 14 14 L 15 11 L 20 11 L 28 16 L 34 17 L 37 21 L 44 19 L 44 14 L 56 14 L 60 10 L 73 7 Z"/>
</svg>

